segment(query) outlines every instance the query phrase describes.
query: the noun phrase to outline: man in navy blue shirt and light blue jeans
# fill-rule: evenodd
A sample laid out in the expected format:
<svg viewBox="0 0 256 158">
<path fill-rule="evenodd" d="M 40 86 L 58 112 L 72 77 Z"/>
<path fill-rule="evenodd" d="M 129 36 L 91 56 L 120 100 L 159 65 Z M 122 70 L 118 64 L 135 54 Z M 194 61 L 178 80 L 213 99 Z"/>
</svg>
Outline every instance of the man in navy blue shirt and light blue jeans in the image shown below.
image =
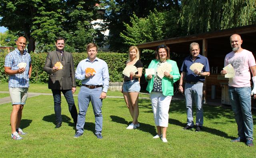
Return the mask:
<svg viewBox="0 0 256 158">
<path fill-rule="evenodd" d="M 186 57 L 183 61 L 183 64 L 180 68 L 182 71 L 180 75 L 180 84 L 179 84 L 179 91 L 183 93 L 182 83 L 183 81 L 186 82 L 185 84 L 185 98 L 186 98 L 186 107 L 187 107 L 187 125 L 183 128 L 183 130 L 191 129 L 194 127 L 193 121 L 193 112 L 192 112 L 192 103 L 195 101 L 196 103 L 196 132 L 202 130 L 204 116 L 203 116 L 203 86 L 205 76 L 210 75 L 210 68 L 208 59 L 200 53 L 200 48 L 198 43 L 191 43 L 190 44 L 190 55 Z M 204 65 L 202 71 L 199 72 L 198 70 L 190 70 L 190 66 L 194 63 L 201 63 Z"/>
</svg>

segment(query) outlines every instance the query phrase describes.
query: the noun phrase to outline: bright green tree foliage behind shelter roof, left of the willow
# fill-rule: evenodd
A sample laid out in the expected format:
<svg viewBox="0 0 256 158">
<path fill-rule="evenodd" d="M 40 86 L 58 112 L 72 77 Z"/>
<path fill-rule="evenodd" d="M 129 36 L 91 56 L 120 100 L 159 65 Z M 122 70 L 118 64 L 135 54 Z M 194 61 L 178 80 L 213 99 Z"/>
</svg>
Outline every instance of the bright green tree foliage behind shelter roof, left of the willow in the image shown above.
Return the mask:
<svg viewBox="0 0 256 158">
<path fill-rule="evenodd" d="M 124 23 L 126 30 L 120 33 L 127 46 L 178 36 L 182 29 L 177 24 L 176 10 L 166 12 L 150 11 L 146 18 L 130 17 L 130 25 Z"/>
</svg>

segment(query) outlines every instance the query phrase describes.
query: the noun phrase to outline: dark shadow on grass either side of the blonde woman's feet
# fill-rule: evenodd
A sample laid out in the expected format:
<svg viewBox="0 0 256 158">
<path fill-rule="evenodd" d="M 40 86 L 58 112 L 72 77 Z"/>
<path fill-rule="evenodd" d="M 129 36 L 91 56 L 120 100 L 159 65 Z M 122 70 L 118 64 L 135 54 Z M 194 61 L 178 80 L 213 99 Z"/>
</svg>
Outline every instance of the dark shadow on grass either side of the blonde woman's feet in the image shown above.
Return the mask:
<svg viewBox="0 0 256 158">
<path fill-rule="evenodd" d="M 128 125 L 129 123 L 131 123 L 131 122 L 126 121 L 124 118 L 119 117 L 119 116 L 111 115 L 110 118 L 112 119 L 113 122 L 122 123 L 124 125 Z M 155 127 L 152 126 L 152 125 L 146 124 L 146 123 L 140 123 L 140 127 L 138 127 L 137 129 L 140 130 L 140 131 L 150 133 L 153 136 L 156 135 Z"/>
</svg>

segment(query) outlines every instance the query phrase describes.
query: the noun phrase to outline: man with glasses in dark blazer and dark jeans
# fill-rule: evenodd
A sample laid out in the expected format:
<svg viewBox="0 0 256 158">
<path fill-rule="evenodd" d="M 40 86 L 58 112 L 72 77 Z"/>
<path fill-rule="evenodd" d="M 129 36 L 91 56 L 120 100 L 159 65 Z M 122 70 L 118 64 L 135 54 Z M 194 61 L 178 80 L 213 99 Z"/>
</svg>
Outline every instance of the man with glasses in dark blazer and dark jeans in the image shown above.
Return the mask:
<svg viewBox="0 0 256 158">
<path fill-rule="evenodd" d="M 44 71 L 49 74 L 48 88 L 52 90 L 54 98 L 54 111 L 56 116 L 56 127 L 61 127 L 61 93 L 68 102 L 68 109 L 73 118 L 74 125 L 77 122 L 77 110 L 74 103 L 73 94 L 76 92 L 76 80 L 74 61 L 71 53 L 64 51 L 65 39 L 56 39 L 56 50 L 47 54 Z"/>
</svg>

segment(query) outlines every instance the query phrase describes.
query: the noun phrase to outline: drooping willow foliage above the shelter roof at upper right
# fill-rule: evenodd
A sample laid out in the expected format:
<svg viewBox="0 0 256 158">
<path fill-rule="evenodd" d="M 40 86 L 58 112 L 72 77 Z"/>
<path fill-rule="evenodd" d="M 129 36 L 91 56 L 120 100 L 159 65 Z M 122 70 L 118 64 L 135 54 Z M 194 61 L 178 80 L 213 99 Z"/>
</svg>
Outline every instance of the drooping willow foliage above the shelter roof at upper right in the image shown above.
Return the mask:
<svg viewBox="0 0 256 158">
<path fill-rule="evenodd" d="M 187 34 L 256 23 L 255 0 L 184 0 L 180 23 Z"/>
</svg>

